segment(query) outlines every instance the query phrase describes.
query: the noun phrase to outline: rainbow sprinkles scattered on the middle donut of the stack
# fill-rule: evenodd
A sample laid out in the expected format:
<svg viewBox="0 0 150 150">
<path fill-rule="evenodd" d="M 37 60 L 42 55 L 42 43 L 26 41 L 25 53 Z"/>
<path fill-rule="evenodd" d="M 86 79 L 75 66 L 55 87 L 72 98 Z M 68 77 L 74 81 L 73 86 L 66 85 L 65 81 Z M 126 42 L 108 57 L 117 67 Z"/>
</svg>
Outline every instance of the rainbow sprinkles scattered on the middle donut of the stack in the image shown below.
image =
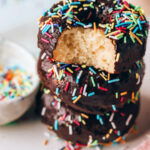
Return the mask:
<svg viewBox="0 0 150 150">
<path fill-rule="evenodd" d="M 84 100 L 84 97 L 92 97 L 97 95 L 98 92 L 107 94 L 107 92 L 109 93 L 110 91 L 108 86 L 109 84 L 117 85 L 122 82 L 121 76 L 118 74 L 109 74 L 105 71 L 88 67 L 86 65 L 73 65 L 54 62 L 53 60 L 49 59 L 48 56 L 45 57 L 48 61 L 50 61 L 50 63 L 53 62 L 51 68 L 47 70 L 47 79 L 57 77 L 58 83 L 66 81 L 64 82 L 63 87 L 59 85 L 56 87 L 55 94 L 59 96 L 63 91 L 65 93 L 70 93 L 72 96 L 72 103 L 74 104 Z M 135 64 L 133 64 L 132 68 L 128 72 L 128 75 L 130 76 L 131 72 L 133 71 L 133 76 L 137 80 L 136 85 L 141 83 L 141 76 L 138 74 L 138 68 L 140 69 L 142 65 L 143 64 L 141 61 L 137 61 Z M 85 75 L 87 74 L 89 75 L 88 82 L 84 80 Z M 66 80 L 66 77 L 74 78 L 76 80 L 75 85 L 73 86 L 72 82 Z M 126 101 L 126 96 L 130 97 L 130 95 L 131 98 L 133 98 L 132 93 L 129 91 L 114 91 L 114 97 L 118 102 L 120 101 L 120 103 L 124 103 Z M 115 111 L 114 107 L 112 107 L 112 109 Z"/>
</svg>

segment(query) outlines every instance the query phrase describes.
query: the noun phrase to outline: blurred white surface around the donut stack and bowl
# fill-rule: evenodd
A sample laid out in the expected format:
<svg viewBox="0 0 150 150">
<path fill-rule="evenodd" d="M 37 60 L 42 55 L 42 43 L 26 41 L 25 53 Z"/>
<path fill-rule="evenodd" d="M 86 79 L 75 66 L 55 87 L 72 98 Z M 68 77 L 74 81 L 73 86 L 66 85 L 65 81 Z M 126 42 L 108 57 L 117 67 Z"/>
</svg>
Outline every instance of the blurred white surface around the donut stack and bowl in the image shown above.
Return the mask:
<svg viewBox="0 0 150 150">
<path fill-rule="evenodd" d="M 48 5 L 48 3 L 49 5 Z M 0 9 L 0 36 L 17 42 L 26 47 L 33 55 L 38 55 L 37 49 L 37 18 L 55 0 L 37 0 L 36 3 L 13 6 Z M 13 12 L 13 13 L 12 13 Z M 149 43 L 150 45 L 150 43 Z M 133 147 L 144 141 L 150 129 L 150 46 L 147 49 L 145 61 L 146 76 L 141 89 L 141 113 L 137 124 L 139 134 L 133 135 L 127 144 L 117 147 L 108 147 L 105 150 L 132 150 Z M 0 127 L 0 150 L 59 150 L 64 143 L 50 136 L 47 146 L 43 146 L 46 139 L 46 127 L 39 119 L 25 120 L 14 126 Z"/>
</svg>

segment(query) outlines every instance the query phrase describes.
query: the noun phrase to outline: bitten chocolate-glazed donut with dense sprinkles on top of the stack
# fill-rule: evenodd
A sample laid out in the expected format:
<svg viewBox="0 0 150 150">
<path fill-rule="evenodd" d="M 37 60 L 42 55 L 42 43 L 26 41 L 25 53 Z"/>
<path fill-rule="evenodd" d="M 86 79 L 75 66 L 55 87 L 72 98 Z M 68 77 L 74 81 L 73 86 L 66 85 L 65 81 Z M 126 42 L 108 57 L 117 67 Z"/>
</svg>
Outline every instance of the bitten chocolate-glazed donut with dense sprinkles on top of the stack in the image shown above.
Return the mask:
<svg viewBox="0 0 150 150">
<path fill-rule="evenodd" d="M 55 61 L 127 71 L 146 50 L 149 23 L 123 0 L 64 0 L 39 19 L 38 47 Z"/>
</svg>

